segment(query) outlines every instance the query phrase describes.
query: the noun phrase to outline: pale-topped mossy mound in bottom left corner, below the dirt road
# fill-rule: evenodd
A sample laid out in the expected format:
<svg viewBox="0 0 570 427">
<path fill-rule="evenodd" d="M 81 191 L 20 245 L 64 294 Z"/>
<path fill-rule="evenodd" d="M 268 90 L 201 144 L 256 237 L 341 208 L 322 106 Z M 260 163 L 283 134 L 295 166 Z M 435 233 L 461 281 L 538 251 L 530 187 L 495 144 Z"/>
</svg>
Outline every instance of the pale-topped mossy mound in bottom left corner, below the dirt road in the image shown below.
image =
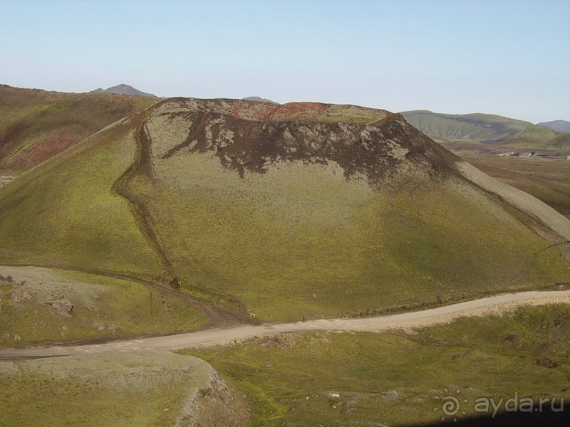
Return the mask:
<svg viewBox="0 0 570 427">
<path fill-rule="evenodd" d="M 241 400 L 206 362 L 168 352 L 0 362 L 2 427 L 237 427 Z"/>
</svg>

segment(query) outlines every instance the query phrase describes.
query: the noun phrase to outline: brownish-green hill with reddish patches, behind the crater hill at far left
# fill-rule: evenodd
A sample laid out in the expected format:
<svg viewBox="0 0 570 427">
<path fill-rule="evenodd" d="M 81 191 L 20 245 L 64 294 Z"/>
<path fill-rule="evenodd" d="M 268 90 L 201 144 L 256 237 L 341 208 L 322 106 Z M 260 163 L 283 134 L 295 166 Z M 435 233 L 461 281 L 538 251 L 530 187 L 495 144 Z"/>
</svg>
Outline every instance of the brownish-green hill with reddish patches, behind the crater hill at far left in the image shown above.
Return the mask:
<svg viewBox="0 0 570 427">
<path fill-rule="evenodd" d="M 156 97 L 0 85 L 0 171 L 24 172 L 156 102 Z"/>
</svg>

